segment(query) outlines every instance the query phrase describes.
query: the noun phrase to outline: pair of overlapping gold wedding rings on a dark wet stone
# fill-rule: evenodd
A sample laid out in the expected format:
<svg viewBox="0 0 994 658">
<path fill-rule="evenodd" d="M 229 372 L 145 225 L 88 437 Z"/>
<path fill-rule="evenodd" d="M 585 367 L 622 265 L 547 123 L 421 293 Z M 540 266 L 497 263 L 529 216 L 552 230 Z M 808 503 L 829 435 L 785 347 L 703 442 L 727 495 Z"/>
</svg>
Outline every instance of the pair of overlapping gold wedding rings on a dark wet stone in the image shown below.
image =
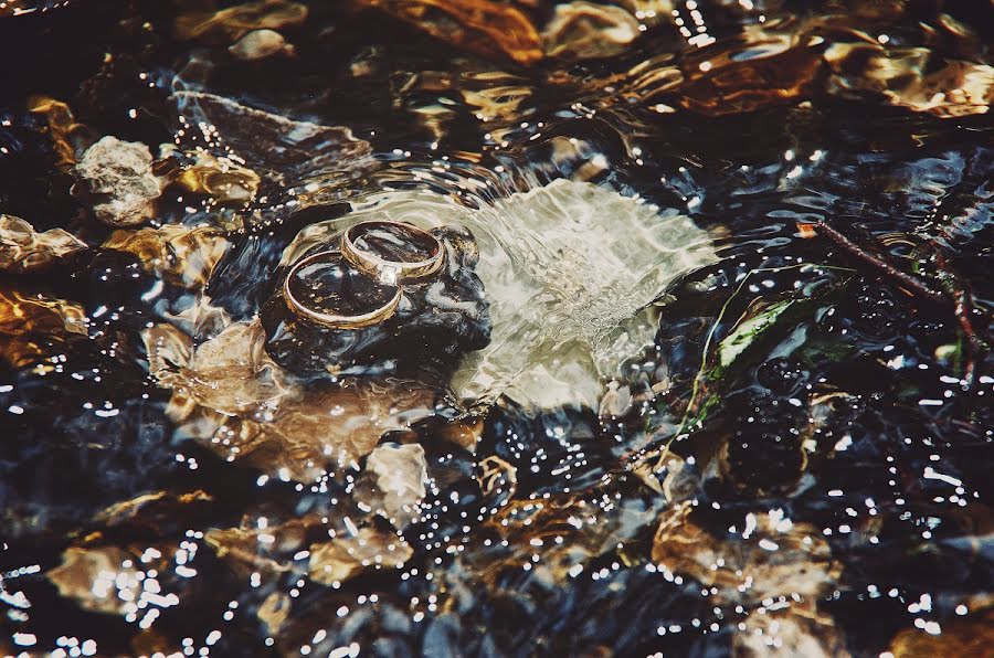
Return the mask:
<svg viewBox="0 0 994 658">
<path fill-rule="evenodd" d="M 435 274 L 444 255 L 437 237 L 411 224 L 360 222 L 341 234 L 339 248 L 295 263 L 283 297 L 290 311 L 317 325 L 370 327 L 396 311 L 402 284 Z"/>
</svg>

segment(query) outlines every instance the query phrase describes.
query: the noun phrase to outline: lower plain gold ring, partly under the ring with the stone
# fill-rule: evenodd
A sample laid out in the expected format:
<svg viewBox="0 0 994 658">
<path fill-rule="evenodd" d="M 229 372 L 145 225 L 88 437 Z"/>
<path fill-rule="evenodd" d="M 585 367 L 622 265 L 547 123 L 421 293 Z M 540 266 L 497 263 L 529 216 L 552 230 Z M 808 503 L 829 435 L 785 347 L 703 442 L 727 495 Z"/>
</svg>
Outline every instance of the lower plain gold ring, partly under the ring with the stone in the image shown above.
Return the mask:
<svg viewBox="0 0 994 658">
<path fill-rule="evenodd" d="M 394 314 L 402 293 L 356 269 L 337 250 L 302 258 L 283 280 L 290 311 L 332 329 L 379 325 Z"/>
</svg>

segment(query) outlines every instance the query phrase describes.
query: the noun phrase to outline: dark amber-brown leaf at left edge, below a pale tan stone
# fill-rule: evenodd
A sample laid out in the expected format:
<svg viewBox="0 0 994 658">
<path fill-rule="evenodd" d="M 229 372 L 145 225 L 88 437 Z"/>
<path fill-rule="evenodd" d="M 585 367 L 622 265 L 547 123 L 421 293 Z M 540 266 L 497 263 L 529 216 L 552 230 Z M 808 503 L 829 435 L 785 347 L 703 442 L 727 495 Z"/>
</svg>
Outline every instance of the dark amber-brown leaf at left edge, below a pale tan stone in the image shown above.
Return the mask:
<svg viewBox="0 0 994 658">
<path fill-rule="evenodd" d="M 25 368 L 55 352 L 64 343 L 85 337 L 83 307 L 65 299 L 0 287 L 0 359 Z"/>
</svg>

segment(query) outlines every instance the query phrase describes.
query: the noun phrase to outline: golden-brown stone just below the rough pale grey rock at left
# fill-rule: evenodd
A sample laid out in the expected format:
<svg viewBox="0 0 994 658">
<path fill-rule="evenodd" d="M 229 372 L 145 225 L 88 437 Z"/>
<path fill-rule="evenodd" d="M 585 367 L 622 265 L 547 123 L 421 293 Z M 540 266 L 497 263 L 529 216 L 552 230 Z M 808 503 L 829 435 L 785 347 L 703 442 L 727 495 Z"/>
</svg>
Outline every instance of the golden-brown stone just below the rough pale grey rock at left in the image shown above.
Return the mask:
<svg viewBox="0 0 994 658">
<path fill-rule="evenodd" d="M 207 285 L 230 243 L 210 226 L 167 224 L 158 229 L 115 231 L 104 248 L 138 256 L 141 267 L 183 288 Z"/>
</svg>

